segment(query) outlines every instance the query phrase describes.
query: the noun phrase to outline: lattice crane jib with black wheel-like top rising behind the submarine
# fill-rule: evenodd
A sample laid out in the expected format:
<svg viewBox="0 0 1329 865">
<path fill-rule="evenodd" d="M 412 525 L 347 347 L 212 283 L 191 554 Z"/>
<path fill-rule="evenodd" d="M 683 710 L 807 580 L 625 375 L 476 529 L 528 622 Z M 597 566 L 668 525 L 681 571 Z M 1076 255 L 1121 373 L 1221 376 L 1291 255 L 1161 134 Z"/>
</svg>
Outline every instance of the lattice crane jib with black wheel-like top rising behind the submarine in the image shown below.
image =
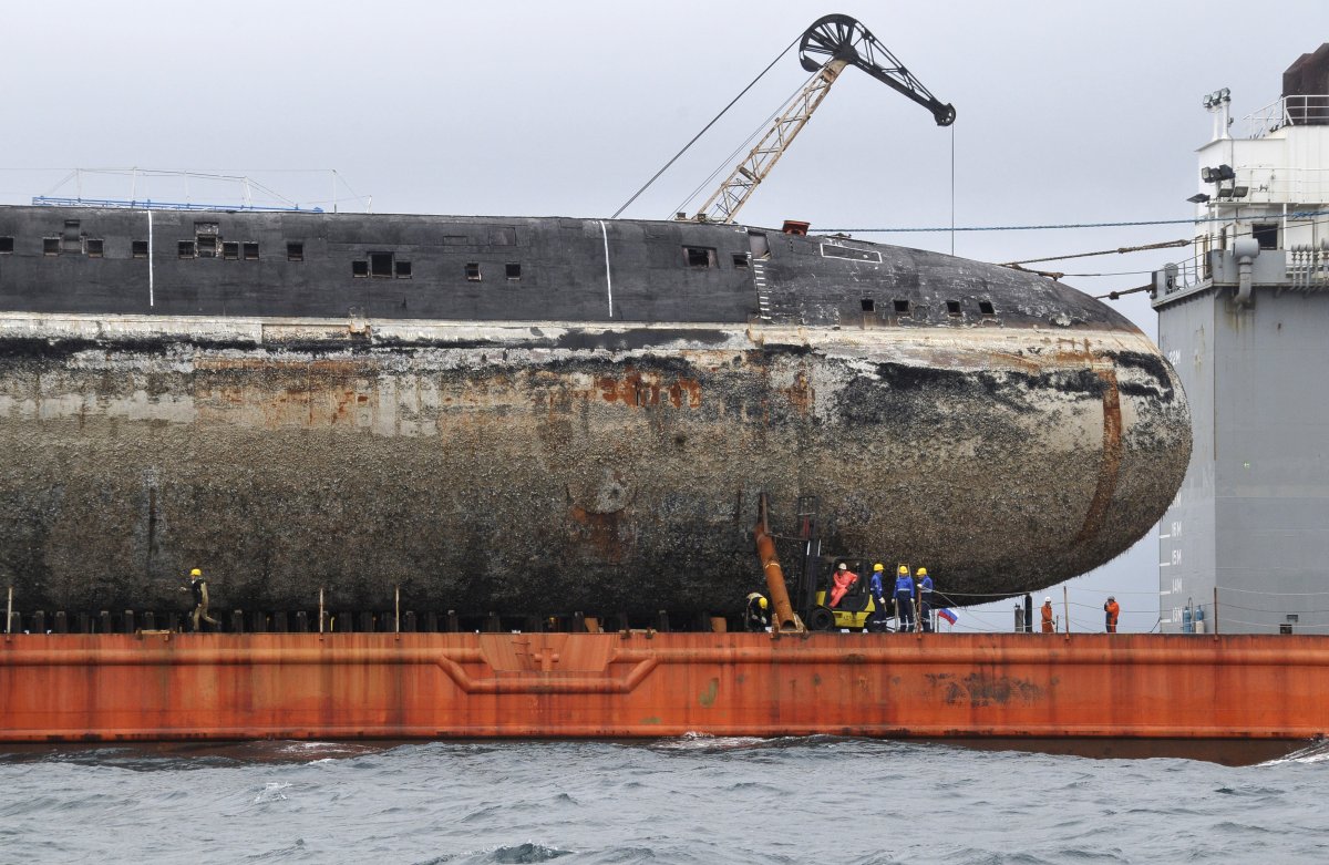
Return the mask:
<svg viewBox="0 0 1329 865">
<path fill-rule="evenodd" d="M 828 15 L 817 19 L 799 41 L 799 61 L 816 74 L 795 96 L 766 137 L 738 163 L 720 187 L 692 217 L 696 222 L 734 222 L 739 209 L 766 179 L 775 163 L 784 155 L 795 136 L 807 125 L 812 112 L 831 92 L 831 85 L 845 66 L 857 66 L 873 78 L 918 102 L 938 126 L 956 122 L 953 105 L 942 104 L 896 60 L 877 37 L 848 15 Z"/>
</svg>

